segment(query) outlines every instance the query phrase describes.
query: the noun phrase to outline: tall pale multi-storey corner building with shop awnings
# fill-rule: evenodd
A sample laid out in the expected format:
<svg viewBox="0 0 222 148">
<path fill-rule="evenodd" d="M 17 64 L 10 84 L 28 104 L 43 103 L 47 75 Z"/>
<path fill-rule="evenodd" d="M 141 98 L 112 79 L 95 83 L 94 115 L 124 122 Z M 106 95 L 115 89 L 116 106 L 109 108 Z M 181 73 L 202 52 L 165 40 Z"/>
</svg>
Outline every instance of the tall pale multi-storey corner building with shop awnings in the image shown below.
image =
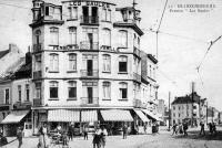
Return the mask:
<svg viewBox="0 0 222 148">
<path fill-rule="evenodd" d="M 70 123 L 134 125 L 140 11 L 105 1 L 32 2 L 33 133 L 42 121 L 51 129 Z"/>
</svg>

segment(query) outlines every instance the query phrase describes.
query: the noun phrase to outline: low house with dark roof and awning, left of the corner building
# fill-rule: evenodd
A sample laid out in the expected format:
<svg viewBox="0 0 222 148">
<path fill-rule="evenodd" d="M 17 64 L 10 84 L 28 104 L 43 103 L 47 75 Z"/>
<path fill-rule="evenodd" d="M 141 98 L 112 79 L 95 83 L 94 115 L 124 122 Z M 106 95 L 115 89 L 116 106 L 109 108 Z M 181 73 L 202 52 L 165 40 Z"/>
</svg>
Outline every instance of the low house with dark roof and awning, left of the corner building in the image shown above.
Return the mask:
<svg viewBox="0 0 222 148">
<path fill-rule="evenodd" d="M 0 121 L 4 136 L 16 136 L 17 127 L 24 127 L 24 136 L 32 135 L 31 123 L 31 54 L 21 57 L 0 80 Z"/>
</svg>

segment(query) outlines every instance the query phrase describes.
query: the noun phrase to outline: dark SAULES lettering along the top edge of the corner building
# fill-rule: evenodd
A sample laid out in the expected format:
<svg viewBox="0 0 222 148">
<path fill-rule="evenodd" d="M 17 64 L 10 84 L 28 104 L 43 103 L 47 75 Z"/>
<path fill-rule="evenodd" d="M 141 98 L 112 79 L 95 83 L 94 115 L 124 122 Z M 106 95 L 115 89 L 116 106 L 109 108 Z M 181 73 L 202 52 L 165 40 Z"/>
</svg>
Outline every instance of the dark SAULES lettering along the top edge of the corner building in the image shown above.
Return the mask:
<svg viewBox="0 0 222 148">
<path fill-rule="evenodd" d="M 102 2 L 102 1 L 71 1 L 70 6 L 87 6 L 87 7 L 102 7 L 102 8 L 110 8 L 110 3 Z"/>
</svg>

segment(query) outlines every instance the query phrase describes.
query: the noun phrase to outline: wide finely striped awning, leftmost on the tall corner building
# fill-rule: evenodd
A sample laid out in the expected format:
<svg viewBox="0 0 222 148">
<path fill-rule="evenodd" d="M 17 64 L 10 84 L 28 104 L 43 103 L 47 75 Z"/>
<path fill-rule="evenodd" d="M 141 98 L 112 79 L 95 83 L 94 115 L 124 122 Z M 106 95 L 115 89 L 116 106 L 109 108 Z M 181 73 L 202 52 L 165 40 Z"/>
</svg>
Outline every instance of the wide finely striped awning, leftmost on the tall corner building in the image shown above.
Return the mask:
<svg viewBox="0 0 222 148">
<path fill-rule="evenodd" d="M 48 121 L 71 123 L 80 121 L 80 112 L 68 109 L 48 110 Z"/>
</svg>

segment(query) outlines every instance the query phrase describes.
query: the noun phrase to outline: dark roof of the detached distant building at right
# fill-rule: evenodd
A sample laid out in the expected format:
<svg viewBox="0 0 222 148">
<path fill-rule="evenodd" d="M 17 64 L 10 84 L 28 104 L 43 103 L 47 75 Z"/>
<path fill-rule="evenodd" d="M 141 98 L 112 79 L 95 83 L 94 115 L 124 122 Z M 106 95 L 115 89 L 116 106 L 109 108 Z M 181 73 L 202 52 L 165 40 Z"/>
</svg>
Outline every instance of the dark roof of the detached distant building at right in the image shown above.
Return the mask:
<svg viewBox="0 0 222 148">
<path fill-rule="evenodd" d="M 181 97 L 175 97 L 175 99 L 172 102 L 172 105 L 175 104 L 188 104 L 192 103 L 192 94 Z M 200 103 L 200 96 L 194 92 L 193 93 L 193 103 Z"/>
</svg>

